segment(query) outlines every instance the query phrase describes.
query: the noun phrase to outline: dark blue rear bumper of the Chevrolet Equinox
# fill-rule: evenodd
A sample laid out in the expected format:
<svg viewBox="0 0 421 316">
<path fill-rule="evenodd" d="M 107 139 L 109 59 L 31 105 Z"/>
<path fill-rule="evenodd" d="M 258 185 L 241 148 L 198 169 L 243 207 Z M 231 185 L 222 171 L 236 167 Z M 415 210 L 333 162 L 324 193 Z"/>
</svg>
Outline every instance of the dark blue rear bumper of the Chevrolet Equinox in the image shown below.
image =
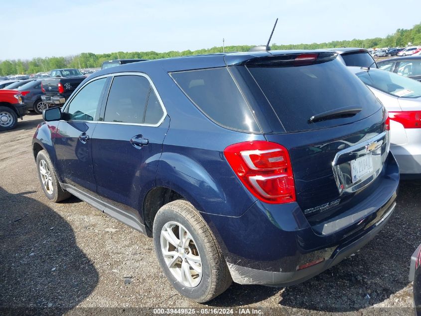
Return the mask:
<svg viewBox="0 0 421 316">
<path fill-rule="evenodd" d="M 311 226 L 298 204 L 256 202 L 240 217 L 202 214 L 239 284 L 290 286 L 336 265 L 384 227 L 395 206 L 399 168 L 389 153 L 362 202 Z"/>
</svg>

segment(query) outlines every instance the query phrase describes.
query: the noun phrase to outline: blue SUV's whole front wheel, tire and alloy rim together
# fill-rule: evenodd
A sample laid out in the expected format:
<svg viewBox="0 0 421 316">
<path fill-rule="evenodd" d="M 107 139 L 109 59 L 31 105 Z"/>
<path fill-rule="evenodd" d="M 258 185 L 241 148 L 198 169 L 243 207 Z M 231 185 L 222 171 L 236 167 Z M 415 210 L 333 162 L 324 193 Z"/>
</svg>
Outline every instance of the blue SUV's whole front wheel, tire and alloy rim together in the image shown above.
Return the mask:
<svg viewBox="0 0 421 316">
<path fill-rule="evenodd" d="M 64 191 L 58 183 L 53 164 L 45 150 L 39 151 L 36 155 L 36 166 L 42 190 L 49 200 L 60 202 L 71 196 L 71 194 Z"/>
</svg>

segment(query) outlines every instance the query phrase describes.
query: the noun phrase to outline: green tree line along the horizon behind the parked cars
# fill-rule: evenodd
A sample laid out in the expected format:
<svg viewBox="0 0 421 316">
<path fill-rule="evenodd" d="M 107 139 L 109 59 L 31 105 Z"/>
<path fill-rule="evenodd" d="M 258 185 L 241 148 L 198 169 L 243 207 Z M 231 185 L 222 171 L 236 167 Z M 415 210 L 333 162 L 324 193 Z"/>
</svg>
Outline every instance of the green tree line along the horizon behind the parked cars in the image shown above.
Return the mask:
<svg viewBox="0 0 421 316">
<path fill-rule="evenodd" d="M 319 49 L 331 47 L 362 47 L 362 48 L 375 48 L 375 47 L 405 47 L 411 42 L 413 45 L 421 45 L 421 23 L 414 25 L 411 29 L 398 28 L 394 34 L 387 35 L 386 37 L 375 37 L 367 39 L 352 39 L 330 41 L 324 43 L 311 43 L 311 44 L 290 44 L 278 45 L 272 44 L 272 49 Z M 225 46 L 225 51 L 248 51 L 255 45 L 233 45 Z M 47 72 L 51 69 L 57 68 L 96 68 L 101 67 L 102 63 L 111 59 L 158 59 L 168 57 L 178 57 L 195 54 L 209 54 L 222 52 L 223 47 L 212 47 L 199 50 L 183 50 L 183 51 L 133 51 L 133 52 L 113 52 L 106 54 L 94 53 L 81 53 L 75 56 L 67 57 L 37 57 L 31 60 L 3 60 L 0 62 L 0 76 L 9 74 L 31 74 L 37 72 Z"/>
</svg>

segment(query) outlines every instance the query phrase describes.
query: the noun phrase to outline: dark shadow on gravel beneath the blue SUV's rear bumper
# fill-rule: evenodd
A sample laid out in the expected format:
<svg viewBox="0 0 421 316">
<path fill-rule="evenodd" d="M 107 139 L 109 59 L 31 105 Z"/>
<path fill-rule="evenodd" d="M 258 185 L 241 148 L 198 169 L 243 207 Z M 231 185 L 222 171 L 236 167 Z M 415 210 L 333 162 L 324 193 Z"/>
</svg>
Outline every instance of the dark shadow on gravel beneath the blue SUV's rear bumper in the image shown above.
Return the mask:
<svg viewBox="0 0 421 316">
<path fill-rule="evenodd" d="M 278 295 L 278 306 L 285 308 L 345 312 L 383 302 L 409 284 L 411 255 L 421 242 L 420 188 L 421 182 L 401 182 L 393 217 L 355 256 L 283 292 L 279 288 L 233 284 L 209 305 L 242 306 Z"/>
</svg>

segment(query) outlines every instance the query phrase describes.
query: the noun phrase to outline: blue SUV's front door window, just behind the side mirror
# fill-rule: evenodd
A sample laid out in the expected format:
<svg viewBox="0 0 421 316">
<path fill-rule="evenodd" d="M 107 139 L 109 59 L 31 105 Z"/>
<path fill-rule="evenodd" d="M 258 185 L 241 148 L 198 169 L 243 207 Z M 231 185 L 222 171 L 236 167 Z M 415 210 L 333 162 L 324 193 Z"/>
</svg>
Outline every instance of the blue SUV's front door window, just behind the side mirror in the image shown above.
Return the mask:
<svg viewBox="0 0 421 316">
<path fill-rule="evenodd" d="M 70 120 L 94 120 L 106 80 L 102 78 L 92 81 L 78 92 L 67 109 Z"/>
</svg>

